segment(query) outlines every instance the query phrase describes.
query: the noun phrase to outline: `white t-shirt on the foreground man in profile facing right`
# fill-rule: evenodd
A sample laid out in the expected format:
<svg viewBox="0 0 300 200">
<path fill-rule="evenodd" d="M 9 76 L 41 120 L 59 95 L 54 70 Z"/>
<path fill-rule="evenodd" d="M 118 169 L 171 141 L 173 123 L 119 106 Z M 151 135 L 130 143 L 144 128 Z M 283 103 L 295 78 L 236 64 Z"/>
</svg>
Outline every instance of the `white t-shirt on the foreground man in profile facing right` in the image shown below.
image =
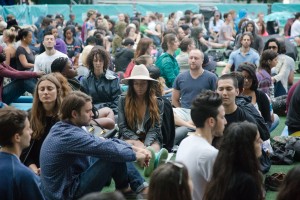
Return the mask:
<svg viewBox="0 0 300 200">
<path fill-rule="evenodd" d="M 180 143 L 176 161 L 182 162 L 188 169 L 194 185 L 193 200 L 203 198 L 218 152 L 207 140 L 197 135 L 191 135 Z"/>
</svg>

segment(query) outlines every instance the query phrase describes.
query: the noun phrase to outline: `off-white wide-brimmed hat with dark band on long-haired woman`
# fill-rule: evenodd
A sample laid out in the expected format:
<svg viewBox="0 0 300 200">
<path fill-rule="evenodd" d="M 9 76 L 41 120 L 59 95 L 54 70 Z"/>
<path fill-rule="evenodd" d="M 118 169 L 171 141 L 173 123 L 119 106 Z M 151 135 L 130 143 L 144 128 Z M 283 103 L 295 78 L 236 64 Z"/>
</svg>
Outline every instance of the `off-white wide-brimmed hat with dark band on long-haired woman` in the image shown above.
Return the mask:
<svg viewBox="0 0 300 200">
<path fill-rule="evenodd" d="M 130 77 L 123 79 L 122 82 L 124 84 L 128 84 L 129 80 L 147 80 L 157 82 L 157 80 L 150 77 L 147 67 L 143 64 L 135 65 L 131 71 Z"/>
</svg>

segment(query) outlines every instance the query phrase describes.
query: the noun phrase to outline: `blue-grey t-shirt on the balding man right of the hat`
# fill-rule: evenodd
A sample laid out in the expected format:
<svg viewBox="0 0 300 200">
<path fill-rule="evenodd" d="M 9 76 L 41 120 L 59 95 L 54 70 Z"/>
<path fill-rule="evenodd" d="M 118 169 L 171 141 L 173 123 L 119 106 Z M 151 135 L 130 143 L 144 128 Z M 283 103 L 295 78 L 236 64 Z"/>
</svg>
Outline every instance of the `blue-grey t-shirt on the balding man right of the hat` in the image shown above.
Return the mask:
<svg viewBox="0 0 300 200">
<path fill-rule="evenodd" d="M 196 96 L 202 90 L 216 90 L 217 76 L 207 70 L 198 78 L 192 78 L 190 71 L 179 74 L 173 88 L 180 91 L 181 107 L 190 108 Z"/>
</svg>

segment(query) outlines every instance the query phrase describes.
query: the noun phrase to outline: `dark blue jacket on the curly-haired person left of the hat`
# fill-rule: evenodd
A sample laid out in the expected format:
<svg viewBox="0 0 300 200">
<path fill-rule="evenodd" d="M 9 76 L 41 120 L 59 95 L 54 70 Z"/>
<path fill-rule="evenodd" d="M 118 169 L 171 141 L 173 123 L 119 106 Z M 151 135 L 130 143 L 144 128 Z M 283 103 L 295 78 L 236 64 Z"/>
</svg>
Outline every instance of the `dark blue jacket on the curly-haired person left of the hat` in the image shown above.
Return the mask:
<svg viewBox="0 0 300 200">
<path fill-rule="evenodd" d="M 97 109 L 109 107 L 115 115 L 118 114 L 121 89 L 119 79 L 114 72 L 106 70 L 105 75 L 101 75 L 99 79 L 90 72 L 88 77 L 82 78 L 81 85 L 84 91 L 93 98 L 93 104 Z"/>
</svg>

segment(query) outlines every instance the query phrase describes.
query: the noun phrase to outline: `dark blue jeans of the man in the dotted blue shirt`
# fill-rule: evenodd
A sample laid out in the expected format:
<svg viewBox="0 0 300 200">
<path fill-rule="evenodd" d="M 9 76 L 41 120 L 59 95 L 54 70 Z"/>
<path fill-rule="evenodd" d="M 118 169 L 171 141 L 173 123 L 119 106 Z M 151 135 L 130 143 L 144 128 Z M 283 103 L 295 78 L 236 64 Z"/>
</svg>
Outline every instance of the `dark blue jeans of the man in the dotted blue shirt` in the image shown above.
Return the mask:
<svg viewBox="0 0 300 200">
<path fill-rule="evenodd" d="M 117 163 L 91 158 L 91 166 L 78 177 L 79 186 L 74 199 L 85 194 L 102 190 L 105 184 L 113 178 L 116 189 L 130 187 L 135 192 L 142 191 L 147 184 L 132 163 Z"/>
</svg>

